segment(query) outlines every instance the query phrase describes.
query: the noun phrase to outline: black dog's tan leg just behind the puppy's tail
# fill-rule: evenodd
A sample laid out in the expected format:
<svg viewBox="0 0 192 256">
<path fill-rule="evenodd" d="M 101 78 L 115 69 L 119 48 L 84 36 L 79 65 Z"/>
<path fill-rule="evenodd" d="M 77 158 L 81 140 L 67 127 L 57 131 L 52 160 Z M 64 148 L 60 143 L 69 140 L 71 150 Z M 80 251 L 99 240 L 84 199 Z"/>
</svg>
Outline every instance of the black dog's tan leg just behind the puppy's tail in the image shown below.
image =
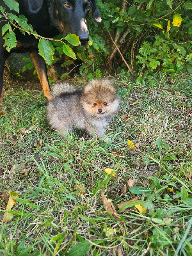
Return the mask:
<svg viewBox="0 0 192 256">
<path fill-rule="evenodd" d="M 52 99 L 52 96 L 51 96 L 49 81 L 47 77 L 45 60 L 42 56 L 38 54 L 38 51 L 31 52 L 30 56 L 33 61 L 33 64 L 35 65 L 38 78 L 40 79 L 40 83 L 42 84 L 44 95 L 50 101 Z"/>
</svg>

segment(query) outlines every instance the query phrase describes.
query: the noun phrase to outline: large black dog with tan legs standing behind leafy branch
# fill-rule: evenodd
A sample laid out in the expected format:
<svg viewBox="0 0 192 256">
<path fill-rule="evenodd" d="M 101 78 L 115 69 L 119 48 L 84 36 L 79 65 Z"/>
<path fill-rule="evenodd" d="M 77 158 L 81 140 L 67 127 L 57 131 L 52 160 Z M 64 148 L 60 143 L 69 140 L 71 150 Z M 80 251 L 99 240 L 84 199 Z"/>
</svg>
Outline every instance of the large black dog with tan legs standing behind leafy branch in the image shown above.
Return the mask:
<svg viewBox="0 0 192 256">
<path fill-rule="evenodd" d="M 19 14 L 28 18 L 28 23 L 33 26 L 38 35 L 53 38 L 59 33 L 72 33 L 79 36 L 81 45 L 87 45 L 89 40 L 86 18 L 92 8 L 93 18 L 100 22 L 100 13 L 96 0 L 17 0 Z M 3 0 L 0 6 L 6 7 Z M 6 7 L 6 12 L 10 10 Z M 12 13 L 14 13 L 12 11 Z M 17 15 L 17 13 L 15 13 Z M 4 39 L 1 29 L 8 22 L 4 17 L 0 20 L 0 102 L 3 102 L 3 70 L 4 63 L 10 52 L 4 48 Z M 27 33 L 23 35 L 19 29 L 14 30 L 17 38 L 17 47 L 11 52 L 29 52 L 35 65 L 36 72 L 42 84 L 44 95 L 51 100 L 49 82 L 45 60 L 38 54 L 38 40 Z"/>
</svg>

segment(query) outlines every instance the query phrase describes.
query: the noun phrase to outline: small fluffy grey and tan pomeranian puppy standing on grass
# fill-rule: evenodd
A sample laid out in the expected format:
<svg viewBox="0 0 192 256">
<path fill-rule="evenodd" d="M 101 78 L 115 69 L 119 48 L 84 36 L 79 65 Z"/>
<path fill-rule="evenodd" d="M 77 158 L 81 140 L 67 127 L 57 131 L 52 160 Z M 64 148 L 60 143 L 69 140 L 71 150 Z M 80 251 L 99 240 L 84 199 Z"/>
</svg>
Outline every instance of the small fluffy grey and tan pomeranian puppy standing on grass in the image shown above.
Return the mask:
<svg viewBox="0 0 192 256">
<path fill-rule="evenodd" d="M 47 116 L 52 128 L 63 138 L 73 128 L 100 138 L 119 105 L 117 88 L 107 79 L 93 79 L 82 90 L 61 82 L 52 86 Z"/>
</svg>

